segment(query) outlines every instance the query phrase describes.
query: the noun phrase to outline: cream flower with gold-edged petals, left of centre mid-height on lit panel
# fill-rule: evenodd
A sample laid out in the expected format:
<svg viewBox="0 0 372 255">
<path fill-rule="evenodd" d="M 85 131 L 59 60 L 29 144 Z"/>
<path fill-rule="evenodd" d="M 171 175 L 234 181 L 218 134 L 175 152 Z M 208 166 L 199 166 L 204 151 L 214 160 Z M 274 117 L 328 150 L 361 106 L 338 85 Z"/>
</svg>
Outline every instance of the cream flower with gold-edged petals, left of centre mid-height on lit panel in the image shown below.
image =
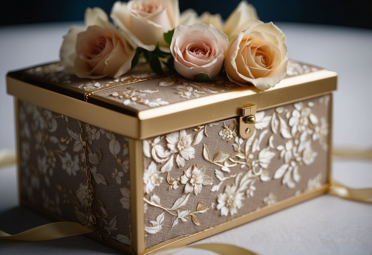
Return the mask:
<svg viewBox="0 0 372 255">
<path fill-rule="evenodd" d="M 187 168 L 185 174 L 181 176 L 181 183 L 186 184 L 185 193 L 194 192 L 195 195 L 202 191 L 202 185 L 212 184 L 212 182 L 212 178 L 205 174 L 205 168 L 199 169 L 197 164 Z"/>
</svg>

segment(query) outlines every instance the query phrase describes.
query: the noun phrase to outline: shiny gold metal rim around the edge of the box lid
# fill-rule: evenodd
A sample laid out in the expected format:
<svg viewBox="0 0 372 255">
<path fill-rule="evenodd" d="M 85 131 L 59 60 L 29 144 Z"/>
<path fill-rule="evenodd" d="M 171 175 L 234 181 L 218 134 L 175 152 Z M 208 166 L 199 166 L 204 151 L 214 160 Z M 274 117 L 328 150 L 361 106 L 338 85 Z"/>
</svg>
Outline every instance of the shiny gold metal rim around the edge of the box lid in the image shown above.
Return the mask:
<svg viewBox="0 0 372 255">
<path fill-rule="evenodd" d="M 45 109 L 129 138 L 147 139 L 176 130 L 239 116 L 240 109 L 246 107 L 249 103 L 256 104 L 257 111 L 261 111 L 329 94 L 336 90 L 336 81 L 337 74 L 335 72 L 320 70 L 286 78 L 266 91 L 258 91 L 251 86 L 241 87 L 135 112 L 137 117 L 130 115 L 134 111 L 128 112 L 124 109 L 124 105 L 122 106 L 122 112 L 118 112 L 17 80 L 9 75 L 7 76 L 7 90 L 9 94 L 13 94 L 20 100 Z M 117 104 L 112 103 L 112 100 L 103 99 L 94 96 L 94 94 L 90 94 L 89 97 L 110 103 L 112 107 L 118 107 Z M 158 125 L 159 123 L 163 125 Z"/>
</svg>

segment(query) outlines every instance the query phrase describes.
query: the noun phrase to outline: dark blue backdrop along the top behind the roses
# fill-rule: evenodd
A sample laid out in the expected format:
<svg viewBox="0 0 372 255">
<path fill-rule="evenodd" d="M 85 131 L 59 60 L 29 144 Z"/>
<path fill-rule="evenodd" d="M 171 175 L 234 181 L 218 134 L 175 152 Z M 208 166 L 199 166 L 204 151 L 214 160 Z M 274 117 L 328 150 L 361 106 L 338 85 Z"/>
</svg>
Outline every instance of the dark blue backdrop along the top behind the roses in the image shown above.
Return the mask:
<svg viewBox="0 0 372 255">
<path fill-rule="evenodd" d="M 99 6 L 107 13 L 115 0 L 13 0 L 2 3 L 0 25 L 83 20 L 86 7 Z M 240 0 L 180 0 L 180 9 L 221 13 L 226 19 Z M 250 0 L 261 20 L 322 23 L 372 28 L 372 0 Z"/>
</svg>

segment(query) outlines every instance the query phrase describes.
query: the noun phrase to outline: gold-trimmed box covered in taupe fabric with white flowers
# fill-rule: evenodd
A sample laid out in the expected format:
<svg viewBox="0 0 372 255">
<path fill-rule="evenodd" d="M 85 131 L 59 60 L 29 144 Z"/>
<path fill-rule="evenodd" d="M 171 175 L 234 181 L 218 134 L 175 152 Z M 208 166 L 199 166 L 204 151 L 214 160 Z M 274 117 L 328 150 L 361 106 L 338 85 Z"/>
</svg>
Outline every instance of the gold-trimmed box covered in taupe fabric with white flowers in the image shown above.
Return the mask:
<svg viewBox="0 0 372 255">
<path fill-rule="evenodd" d="M 22 205 L 130 254 L 195 242 L 327 192 L 337 75 L 290 61 L 266 91 L 138 64 L 7 75 Z"/>
</svg>

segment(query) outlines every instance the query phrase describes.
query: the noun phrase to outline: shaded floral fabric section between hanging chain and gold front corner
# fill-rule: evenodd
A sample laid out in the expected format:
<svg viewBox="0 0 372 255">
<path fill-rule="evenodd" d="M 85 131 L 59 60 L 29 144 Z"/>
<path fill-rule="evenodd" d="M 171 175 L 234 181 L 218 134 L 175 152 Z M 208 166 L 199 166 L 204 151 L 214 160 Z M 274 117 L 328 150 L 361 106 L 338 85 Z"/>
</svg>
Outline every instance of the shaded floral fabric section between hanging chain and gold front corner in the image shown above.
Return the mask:
<svg viewBox="0 0 372 255">
<path fill-rule="evenodd" d="M 103 236 L 131 246 L 128 138 L 84 123 L 94 183 L 94 216 Z"/>
</svg>

